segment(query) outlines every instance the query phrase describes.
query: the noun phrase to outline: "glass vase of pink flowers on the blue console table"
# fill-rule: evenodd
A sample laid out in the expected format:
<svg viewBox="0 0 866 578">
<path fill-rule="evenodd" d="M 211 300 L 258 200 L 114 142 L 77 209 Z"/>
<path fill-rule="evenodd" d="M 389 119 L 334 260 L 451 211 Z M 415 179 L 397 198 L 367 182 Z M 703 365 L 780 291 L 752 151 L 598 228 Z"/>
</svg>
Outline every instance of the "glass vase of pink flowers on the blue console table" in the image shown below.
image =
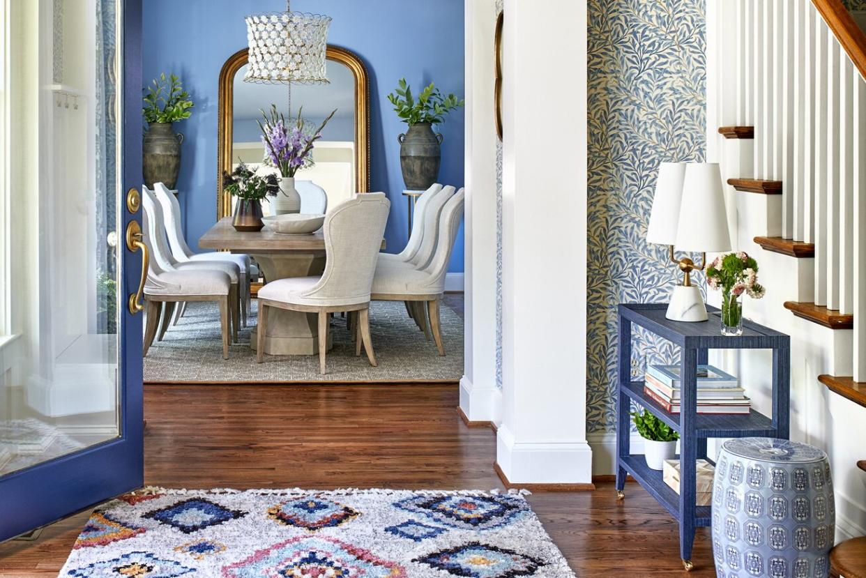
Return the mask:
<svg viewBox="0 0 866 578">
<path fill-rule="evenodd" d="M 758 262 L 745 251 L 715 257 L 707 267 L 707 283 L 721 289 L 721 334 L 743 334 L 743 295 L 760 299 L 766 294 L 758 283 Z"/>
</svg>

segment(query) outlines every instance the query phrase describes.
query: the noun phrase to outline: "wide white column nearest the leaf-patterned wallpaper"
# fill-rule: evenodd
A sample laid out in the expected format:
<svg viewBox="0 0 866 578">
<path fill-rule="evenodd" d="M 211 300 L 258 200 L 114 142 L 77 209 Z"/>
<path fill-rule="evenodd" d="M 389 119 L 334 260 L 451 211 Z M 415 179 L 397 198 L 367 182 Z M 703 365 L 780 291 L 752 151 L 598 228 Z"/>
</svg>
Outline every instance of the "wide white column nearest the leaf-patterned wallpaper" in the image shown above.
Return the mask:
<svg viewBox="0 0 866 578">
<path fill-rule="evenodd" d="M 586 2 L 506 0 L 505 14 L 504 366 L 496 460 L 514 484 L 589 483 Z M 565 108 L 551 107 L 545 87 L 552 82 L 556 94 L 567 95 Z M 551 170 L 540 169 L 539 159 Z"/>
</svg>

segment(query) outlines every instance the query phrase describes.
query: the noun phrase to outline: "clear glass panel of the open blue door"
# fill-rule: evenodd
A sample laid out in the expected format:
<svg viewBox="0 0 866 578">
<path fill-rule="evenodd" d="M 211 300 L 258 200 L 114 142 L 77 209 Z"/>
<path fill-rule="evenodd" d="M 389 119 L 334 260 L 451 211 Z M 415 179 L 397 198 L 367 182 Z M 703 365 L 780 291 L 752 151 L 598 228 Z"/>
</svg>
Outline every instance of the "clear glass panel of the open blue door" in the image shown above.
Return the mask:
<svg viewBox="0 0 866 578">
<path fill-rule="evenodd" d="M 0 0 L 0 476 L 120 434 L 118 0 Z"/>
</svg>

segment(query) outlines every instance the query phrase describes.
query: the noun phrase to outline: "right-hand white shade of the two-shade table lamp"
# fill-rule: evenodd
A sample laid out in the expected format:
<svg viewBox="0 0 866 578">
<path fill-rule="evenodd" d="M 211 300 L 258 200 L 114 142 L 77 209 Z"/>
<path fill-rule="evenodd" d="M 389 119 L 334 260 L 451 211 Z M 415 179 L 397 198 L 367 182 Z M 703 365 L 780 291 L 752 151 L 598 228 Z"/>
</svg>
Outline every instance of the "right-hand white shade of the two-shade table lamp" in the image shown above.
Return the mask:
<svg viewBox="0 0 866 578">
<path fill-rule="evenodd" d="M 678 220 L 676 249 L 695 253 L 731 250 L 725 192 L 718 163 L 689 163 L 686 166 Z"/>
</svg>

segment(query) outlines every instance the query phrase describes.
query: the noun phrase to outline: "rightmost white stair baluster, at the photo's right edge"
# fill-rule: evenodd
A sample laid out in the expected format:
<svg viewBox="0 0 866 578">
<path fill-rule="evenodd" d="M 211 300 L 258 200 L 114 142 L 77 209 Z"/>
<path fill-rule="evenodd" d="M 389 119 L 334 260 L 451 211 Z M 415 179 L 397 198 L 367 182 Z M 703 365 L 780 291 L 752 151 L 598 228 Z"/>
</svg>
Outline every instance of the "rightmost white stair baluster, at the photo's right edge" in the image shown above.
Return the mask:
<svg viewBox="0 0 866 578">
<path fill-rule="evenodd" d="M 856 71 L 853 84 L 854 380 L 866 381 L 866 83 Z"/>
</svg>

